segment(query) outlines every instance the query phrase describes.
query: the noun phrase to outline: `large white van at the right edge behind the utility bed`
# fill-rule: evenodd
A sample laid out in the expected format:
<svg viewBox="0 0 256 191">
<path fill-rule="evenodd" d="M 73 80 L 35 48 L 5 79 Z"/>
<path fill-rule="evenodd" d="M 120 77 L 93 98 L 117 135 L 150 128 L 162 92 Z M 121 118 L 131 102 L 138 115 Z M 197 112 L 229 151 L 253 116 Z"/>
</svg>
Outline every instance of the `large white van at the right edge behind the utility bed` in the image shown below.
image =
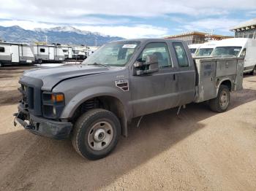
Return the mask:
<svg viewBox="0 0 256 191">
<path fill-rule="evenodd" d="M 256 72 L 256 39 L 223 39 L 217 44 L 212 55 L 222 58 L 244 58 L 244 73 L 254 74 Z"/>
</svg>

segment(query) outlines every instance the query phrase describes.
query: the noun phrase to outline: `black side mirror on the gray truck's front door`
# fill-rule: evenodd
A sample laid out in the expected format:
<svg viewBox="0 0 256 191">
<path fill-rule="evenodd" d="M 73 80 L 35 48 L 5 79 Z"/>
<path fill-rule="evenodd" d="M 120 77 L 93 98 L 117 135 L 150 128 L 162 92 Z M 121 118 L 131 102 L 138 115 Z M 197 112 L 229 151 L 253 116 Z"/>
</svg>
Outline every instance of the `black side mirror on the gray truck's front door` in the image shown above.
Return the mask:
<svg viewBox="0 0 256 191">
<path fill-rule="evenodd" d="M 146 62 L 136 61 L 134 67 L 137 76 L 159 71 L 157 55 L 146 55 Z"/>
</svg>

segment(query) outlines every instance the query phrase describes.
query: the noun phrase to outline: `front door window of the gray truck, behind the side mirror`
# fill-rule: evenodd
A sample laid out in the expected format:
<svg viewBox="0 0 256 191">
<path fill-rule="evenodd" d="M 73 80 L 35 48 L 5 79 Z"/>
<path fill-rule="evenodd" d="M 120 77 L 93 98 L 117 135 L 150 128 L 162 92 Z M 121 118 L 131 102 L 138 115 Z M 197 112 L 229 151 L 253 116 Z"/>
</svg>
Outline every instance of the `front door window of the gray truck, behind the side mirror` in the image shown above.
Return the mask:
<svg viewBox="0 0 256 191">
<path fill-rule="evenodd" d="M 143 52 L 141 52 L 138 60 L 145 62 L 146 55 L 156 55 L 158 58 L 159 68 L 168 68 L 172 66 L 170 60 L 170 53 L 167 44 L 165 44 L 164 42 L 148 43 L 144 48 Z"/>
</svg>

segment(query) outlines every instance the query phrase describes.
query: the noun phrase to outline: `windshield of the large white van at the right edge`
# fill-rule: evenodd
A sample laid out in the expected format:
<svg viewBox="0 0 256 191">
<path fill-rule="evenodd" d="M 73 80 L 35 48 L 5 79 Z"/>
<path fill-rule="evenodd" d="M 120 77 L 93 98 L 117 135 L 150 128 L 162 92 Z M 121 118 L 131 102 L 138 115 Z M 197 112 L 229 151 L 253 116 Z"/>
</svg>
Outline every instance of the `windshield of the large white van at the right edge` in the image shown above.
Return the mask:
<svg viewBox="0 0 256 191">
<path fill-rule="evenodd" d="M 237 57 L 242 47 L 216 47 L 214 57 Z"/>
</svg>

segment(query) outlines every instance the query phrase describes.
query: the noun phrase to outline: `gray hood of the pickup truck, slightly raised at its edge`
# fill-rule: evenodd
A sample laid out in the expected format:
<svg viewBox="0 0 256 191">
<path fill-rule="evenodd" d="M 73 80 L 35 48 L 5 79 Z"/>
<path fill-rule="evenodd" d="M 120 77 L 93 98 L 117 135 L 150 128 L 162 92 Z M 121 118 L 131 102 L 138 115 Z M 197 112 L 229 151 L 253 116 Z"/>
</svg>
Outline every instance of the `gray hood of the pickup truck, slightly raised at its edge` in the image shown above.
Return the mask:
<svg viewBox="0 0 256 191">
<path fill-rule="evenodd" d="M 118 67 L 119 68 L 119 67 Z M 40 79 L 42 81 L 42 90 L 50 91 L 59 82 L 65 79 L 72 79 L 74 77 L 83 77 L 93 74 L 102 74 L 108 71 L 116 70 L 117 67 L 104 67 L 104 66 L 58 66 L 58 67 L 47 67 L 43 69 L 31 69 L 25 71 L 20 81 L 23 82 L 27 77 L 29 79 Z"/>
</svg>

